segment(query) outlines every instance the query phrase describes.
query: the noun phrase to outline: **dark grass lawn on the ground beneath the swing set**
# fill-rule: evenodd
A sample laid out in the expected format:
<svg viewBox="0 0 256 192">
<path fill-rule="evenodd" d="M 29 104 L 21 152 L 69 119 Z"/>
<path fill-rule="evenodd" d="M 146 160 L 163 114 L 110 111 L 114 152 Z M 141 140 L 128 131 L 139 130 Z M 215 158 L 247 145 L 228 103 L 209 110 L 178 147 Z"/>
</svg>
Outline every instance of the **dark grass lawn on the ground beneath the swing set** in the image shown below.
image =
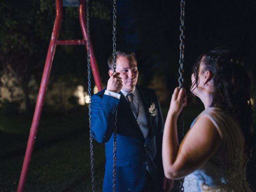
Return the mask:
<svg viewBox="0 0 256 192">
<path fill-rule="evenodd" d="M 167 110 L 167 107 L 162 108 L 164 117 Z M 200 107 L 186 108 L 185 130 L 201 110 Z M 0 192 L 12 192 L 17 189 L 31 122 L 32 117 L 0 119 Z M 249 181 L 253 181 L 255 163 L 250 164 L 250 171 Z M 104 144 L 96 142 L 94 172 L 96 191 L 99 192 L 102 191 L 104 172 Z M 90 182 L 87 111 L 79 110 L 68 116 L 42 115 L 24 191 L 89 192 Z M 173 191 L 178 192 L 178 181 L 175 182 Z"/>
</svg>

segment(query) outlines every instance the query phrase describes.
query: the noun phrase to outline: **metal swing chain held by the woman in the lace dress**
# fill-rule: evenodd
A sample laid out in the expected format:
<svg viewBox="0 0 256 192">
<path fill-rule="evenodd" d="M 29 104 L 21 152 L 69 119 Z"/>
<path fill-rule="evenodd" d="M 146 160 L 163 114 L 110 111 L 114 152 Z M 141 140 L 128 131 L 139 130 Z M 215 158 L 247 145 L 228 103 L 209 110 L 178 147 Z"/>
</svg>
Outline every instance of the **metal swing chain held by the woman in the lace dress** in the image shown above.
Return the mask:
<svg viewBox="0 0 256 192">
<path fill-rule="evenodd" d="M 184 40 L 185 40 L 185 0 L 180 0 L 180 68 L 179 68 L 179 88 L 182 88 L 182 83 L 183 83 L 183 65 L 184 65 L 184 48 L 185 48 L 185 44 L 184 44 Z M 183 120 L 183 116 L 184 116 L 184 112 L 182 110 L 182 112 L 180 113 L 179 116 L 179 127 L 182 130 L 182 139 L 184 138 L 184 120 Z M 180 179 L 180 192 L 184 192 L 184 178 Z"/>
</svg>

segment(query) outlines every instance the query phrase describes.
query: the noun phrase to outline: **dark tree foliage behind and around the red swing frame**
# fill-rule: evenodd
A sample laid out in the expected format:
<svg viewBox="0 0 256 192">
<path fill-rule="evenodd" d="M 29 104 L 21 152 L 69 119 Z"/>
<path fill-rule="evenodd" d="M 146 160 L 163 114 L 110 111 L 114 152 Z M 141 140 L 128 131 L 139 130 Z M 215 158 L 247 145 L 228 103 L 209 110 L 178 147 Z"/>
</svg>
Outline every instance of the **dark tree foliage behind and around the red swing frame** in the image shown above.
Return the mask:
<svg viewBox="0 0 256 192">
<path fill-rule="evenodd" d="M 102 64 L 105 64 L 103 61 L 107 58 L 105 55 L 108 55 L 102 52 L 102 49 L 107 50 L 108 45 L 112 46 L 112 37 L 105 38 L 106 33 L 102 35 L 102 31 L 99 30 L 99 26 L 104 28 L 106 23 L 109 23 L 107 34 L 112 34 L 108 6 L 108 2 L 104 1 L 90 4 L 93 23 L 91 37 L 92 42 L 97 40 L 102 43 L 95 43 L 97 46 L 94 49 L 96 57 L 100 58 L 98 63 Z M 14 79 L 16 85 L 22 89 L 25 110 L 29 111 L 31 90 L 28 85 L 32 76 L 35 77 L 37 84 L 40 84 L 55 18 L 55 0 L 0 2 L 0 16 L 0 70 Z M 72 38 L 82 38 L 78 8 L 63 8 L 59 39 Z M 105 40 L 109 42 L 108 45 L 105 44 Z M 68 84 L 82 83 L 86 87 L 85 46 L 58 46 L 49 82 L 55 82 L 60 78 L 68 81 Z"/>
</svg>

